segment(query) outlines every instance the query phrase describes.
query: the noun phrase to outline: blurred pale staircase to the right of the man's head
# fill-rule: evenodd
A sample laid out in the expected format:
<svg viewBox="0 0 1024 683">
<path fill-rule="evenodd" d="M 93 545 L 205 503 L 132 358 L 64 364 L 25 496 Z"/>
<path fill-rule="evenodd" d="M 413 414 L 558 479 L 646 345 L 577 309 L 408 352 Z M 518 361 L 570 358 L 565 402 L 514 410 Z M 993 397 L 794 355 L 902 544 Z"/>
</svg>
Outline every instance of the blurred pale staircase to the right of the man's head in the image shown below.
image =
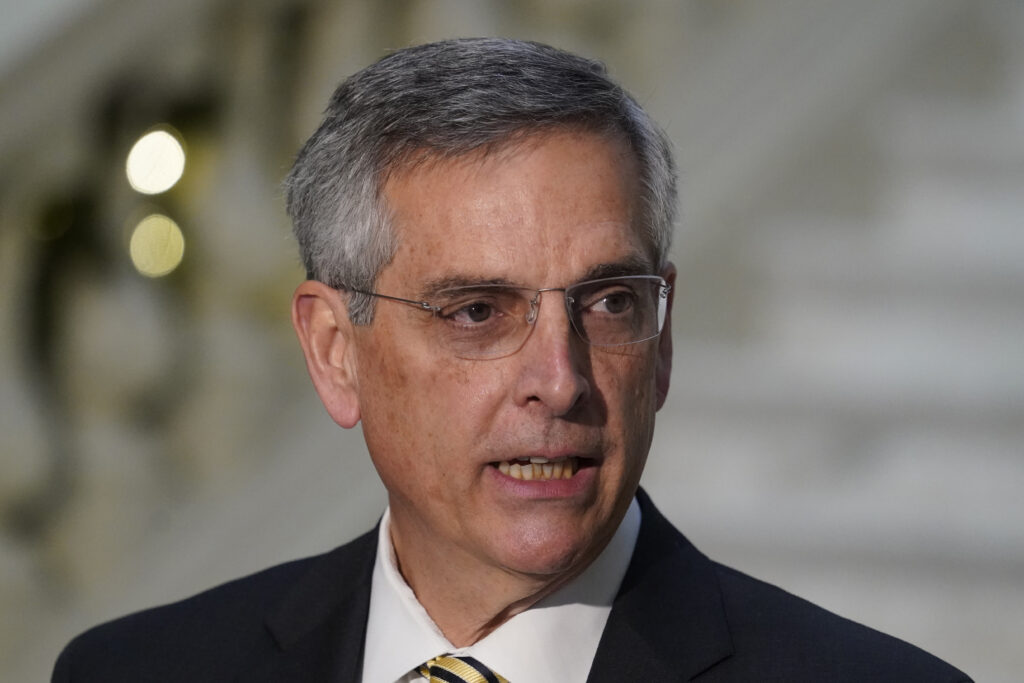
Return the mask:
<svg viewBox="0 0 1024 683">
<path fill-rule="evenodd" d="M 962 19 L 684 280 L 646 485 L 722 561 L 1006 680 L 1024 671 L 1024 6 Z M 716 288 L 737 319 L 707 322 Z M 972 648 L 1002 668 L 956 660 Z"/>
</svg>

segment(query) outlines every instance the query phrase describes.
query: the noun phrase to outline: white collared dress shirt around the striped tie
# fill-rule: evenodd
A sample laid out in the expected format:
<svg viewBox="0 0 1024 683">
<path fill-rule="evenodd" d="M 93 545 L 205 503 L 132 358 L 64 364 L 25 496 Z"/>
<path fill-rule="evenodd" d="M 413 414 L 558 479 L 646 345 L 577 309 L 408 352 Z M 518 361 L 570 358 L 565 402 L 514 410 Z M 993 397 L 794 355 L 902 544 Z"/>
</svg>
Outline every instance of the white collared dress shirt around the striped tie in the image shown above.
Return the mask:
<svg viewBox="0 0 1024 683">
<path fill-rule="evenodd" d="M 370 592 L 364 683 L 412 683 L 438 654 L 470 655 L 510 683 L 585 683 L 611 601 L 640 532 L 634 499 L 611 541 L 583 573 L 469 647 L 455 647 L 402 579 L 391 545 L 390 510 L 381 519 Z"/>
</svg>

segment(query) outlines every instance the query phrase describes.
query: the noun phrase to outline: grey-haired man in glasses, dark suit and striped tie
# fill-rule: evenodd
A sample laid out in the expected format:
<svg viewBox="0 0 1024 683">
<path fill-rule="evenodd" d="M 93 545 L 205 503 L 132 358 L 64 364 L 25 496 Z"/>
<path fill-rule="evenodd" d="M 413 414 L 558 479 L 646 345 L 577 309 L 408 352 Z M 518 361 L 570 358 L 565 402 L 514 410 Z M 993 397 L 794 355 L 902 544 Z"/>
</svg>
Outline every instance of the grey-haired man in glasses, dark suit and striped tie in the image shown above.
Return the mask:
<svg viewBox="0 0 1024 683">
<path fill-rule="evenodd" d="M 669 389 L 665 136 L 603 68 L 449 41 L 288 179 L 293 323 L 388 492 L 327 555 L 99 627 L 56 681 L 967 681 L 697 552 L 638 489 Z"/>
</svg>

